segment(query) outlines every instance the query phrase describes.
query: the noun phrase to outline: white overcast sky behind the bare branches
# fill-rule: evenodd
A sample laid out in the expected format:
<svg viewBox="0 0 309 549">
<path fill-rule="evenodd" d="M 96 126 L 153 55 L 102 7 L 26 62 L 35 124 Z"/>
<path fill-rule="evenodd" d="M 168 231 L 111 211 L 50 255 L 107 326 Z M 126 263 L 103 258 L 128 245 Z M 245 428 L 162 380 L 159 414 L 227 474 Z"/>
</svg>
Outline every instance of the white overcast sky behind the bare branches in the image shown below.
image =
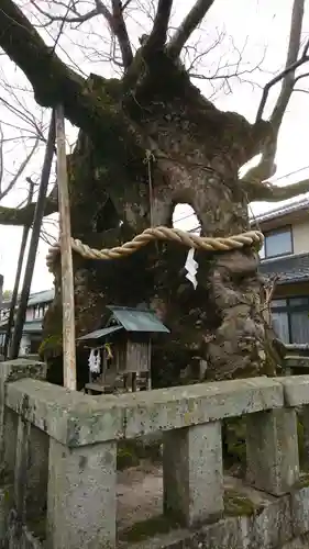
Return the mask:
<svg viewBox="0 0 309 549">
<path fill-rule="evenodd" d="M 134 0 L 132 2 L 134 4 Z M 137 2 L 135 2 L 136 4 Z M 140 2 L 145 3 L 145 2 Z M 307 1 L 307 4 L 309 2 Z M 40 5 L 43 5 L 43 1 Z M 177 21 L 183 19 L 185 12 L 192 4 L 191 1 L 186 2 L 175 0 L 175 15 L 173 24 L 176 25 Z M 199 38 L 199 49 L 208 49 L 218 36 L 224 34 L 224 40 L 203 58 L 201 65 L 197 67 L 199 74 L 210 76 L 216 72 L 218 64 L 222 67 L 229 59 L 230 63 L 236 63 L 238 54 L 234 46 L 239 51 L 243 51 L 242 68 L 247 70 L 242 76 L 242 81 L 232 80 L 232 92 L 227 93 L 227 88 L 218 91 L 214 96 L 216 105 L 222 110 L 238 111 L 245 115 L 250 121 L 254 120 L 256 109 L 261 100 L 261 86 L 272 78 L 276 70 L 283 68 L 287 48 L 287 40 L 289 32 L 289 20 L 291 13 L 291 0 L 216 0 L 212 9 L 210 10 L 207 19 L 202 25 L 202 31 L 196 33 L 195 41 Z M 308 36 L 309 32 L 309 10 L 305 15 L 304 38 Z M 64 53 L 66 49 L 69 53 L 70 60 L 74 60 L 81 69 L 89 74 L 89 71 L 100 74 L 102 76 L 111 76 L 113 68 L 108 64 L 103 54 L 101 21 L 93 21 L 88 26 L 82 27 L 82 32 L 67 31 L 66 36 L 59 42 L 60 48 L 58 55 L 65 60 L 67 56 Z M 133 35 L 134 43 L 137 44 L 137 37 L 143 32 L 148 32 L 150 24 L 147 19 L 136 10 L 132 13 L 132 19 L 129 22 L 131 35 Z M 45 34 L 47 42 L 53 44 L 52 36 Z M 232 38 L 231 38 L 232 37 Z M 84 46 L 80 49 L 76 46 L 79 44 Z M 89 46 L 93 44 L 93 49 Z M 62 49 L 63 47 L 63 49 Z M 261 64 L 262 61 L 262 64 Z M 254 72 L 250 72 L 252 67 L 260 66 Z M 230 69 L 231 70 L 231 69 Z M 14 92 L 19 101 L 30 111 L 34 112 L 37 120 L 41 116 L 41 110 L 35 108 L 32 93 L 25 90 L 25 79 L 20 70 L 18 70 L 7 57 L 0 56 L 0 71 L 8 82 L 13 82 Z M 222 69 L 223 71 L 223 69 Z M 1 76 L 1 75 L 0 75 Z M 245 82 L 246 80 L 246 82 Z M 255 82 L 256 86 L 252 86 Z M 195 80 L 195 83 L 200 87 L 207 97 L 213 92 L 211 86 L 207 80 Z M 218 83 L 218 82 L 216 82 Z M 308 85 L 307 85 L 308 87 Z M 18 89 L 16 89 L 18 88 Z M 271 94 L 267 111 L 269 112 L 273 101 L 276 99 L 278 88 L 274 89 Z M 9 89 L 0 90 L 0 97 L 11 100 Z M 14 101 L 13 101 L 14 102 Z M 16 103 L 14 103 L 16 104 Z M 266 111 L 266 112 L 267 112 Z M 49 113 L 43 113 L 43 121 L 46 126 Z M 7 138 L 18 137 L 21 132 L 11 127 L 19 125 L 15 116 L 11 115 L 9 111 L 2 105 L 0 107 L 0 117 L 5 124 L 2 125 L 4 136 Z M 277 173 L 274 180 L 278 179 L 279 184 L 294 182 L 299 179 L 309 177 L 309 94 L 295 92 L 289 103 L 288 111 L 284 119 L 278 144 L 277 154 Z M 20 124 L 22 125 L 22 124 Z M 25 124 L 23 123 L 23 127 Z M 29 130 L 30 126 L 27 126 Z M 76 132 L 68 126 L 68 141 L 74 142 Z M 24 132 L 22 132 L 24 135 Z M 27 132 L 29 135 L 29 132 Z M 26 142 L 8 142 L 5 145 L 4 168 L 5 181 L 9 181 L 11 175 L 20 165 L 24 155 L 29 152 L 33 141 Z M 24 172 L 24 178 L 27 176 L 37 179 L 40 168 L 42 165 L 43 147 L 34 156 L 33 161 L 29 165 L 27 170 Z M 286 175 L 300 170 L 298 173 Z M 19 182 L 15 191 L 12 192 L 2 204 L 16 205 L 24 200 L 26 188 L 24 178 Z M 269 208 L 268 204 L 255 204 L 253 210 L 260 213 Z M 179 206 L 176 212 L 176 219 L 188 215 L 188 210 Z M 196 225 L 194 217 L 187 217 L 180 223 L 181 228 L 191 228 Z M 51 225 L 46 226 L 49 233 L 56 234 L 55 228 Z M 4 274 L 4 288 L 12 289 L 15 264 L 19 254 L 19 246 L 21 239 L 20 227 L 1 227 L 0 226 L 0 272 Z M 33 291 L 40 291 L 52 287 L 53 279 L 48 273 L 45 266 L 45 256 L 47 251 L 47 244 L 41 243 L 38 256 L 35 265 L 34 279 L 32 284 Z"/>
</svg>

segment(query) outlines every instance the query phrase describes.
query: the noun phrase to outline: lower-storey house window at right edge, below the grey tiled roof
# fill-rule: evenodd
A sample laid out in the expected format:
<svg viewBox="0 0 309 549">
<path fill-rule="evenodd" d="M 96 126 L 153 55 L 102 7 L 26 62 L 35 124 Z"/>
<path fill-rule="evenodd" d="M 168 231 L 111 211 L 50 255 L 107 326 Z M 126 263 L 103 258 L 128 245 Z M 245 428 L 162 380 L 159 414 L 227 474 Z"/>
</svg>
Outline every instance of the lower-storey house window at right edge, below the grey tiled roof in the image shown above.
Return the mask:
<svg viewBox="0 0 309 549">
<path fill-rule="evenodd" d="M 284 343 L 309 343 L 309 296 L 274 300 L 272 320 L 276 335 Z"/>
</svg>

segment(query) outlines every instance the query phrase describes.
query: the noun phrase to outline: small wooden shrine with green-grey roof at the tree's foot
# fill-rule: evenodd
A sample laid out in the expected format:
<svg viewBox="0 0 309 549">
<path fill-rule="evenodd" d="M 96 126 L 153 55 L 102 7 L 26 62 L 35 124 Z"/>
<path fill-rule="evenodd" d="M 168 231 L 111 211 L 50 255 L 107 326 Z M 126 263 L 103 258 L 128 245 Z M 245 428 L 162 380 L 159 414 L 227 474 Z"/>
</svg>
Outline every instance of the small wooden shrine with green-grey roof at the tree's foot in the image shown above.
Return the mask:
<svg viewBox="0 0 309 549">
<path fill-rule="evenodd" d="M 169 329 L 145 309 L 109 306 L 104 327 L 86 334 L 78 341 L 90 349 L 88 393 L 150 390 L 151 338 Z"/>
</svg>

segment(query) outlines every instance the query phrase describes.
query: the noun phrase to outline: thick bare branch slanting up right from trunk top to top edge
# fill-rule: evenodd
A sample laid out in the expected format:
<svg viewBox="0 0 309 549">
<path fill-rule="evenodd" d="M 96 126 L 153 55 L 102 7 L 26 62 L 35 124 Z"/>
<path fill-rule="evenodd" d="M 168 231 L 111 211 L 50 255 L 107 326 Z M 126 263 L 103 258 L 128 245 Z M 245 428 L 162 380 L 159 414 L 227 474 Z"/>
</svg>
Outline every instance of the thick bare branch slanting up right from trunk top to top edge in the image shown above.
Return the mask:
<svg viewBox="0 0 309 549">
<path fill-rule="evenodd" d="M 180 23 L 170 42 L 167 52 L 172 57 L 179 57 L 180 52 L 197 26 L 201 23 L 214 0 L 197 0 L 187 16 Z"/>
</svg>

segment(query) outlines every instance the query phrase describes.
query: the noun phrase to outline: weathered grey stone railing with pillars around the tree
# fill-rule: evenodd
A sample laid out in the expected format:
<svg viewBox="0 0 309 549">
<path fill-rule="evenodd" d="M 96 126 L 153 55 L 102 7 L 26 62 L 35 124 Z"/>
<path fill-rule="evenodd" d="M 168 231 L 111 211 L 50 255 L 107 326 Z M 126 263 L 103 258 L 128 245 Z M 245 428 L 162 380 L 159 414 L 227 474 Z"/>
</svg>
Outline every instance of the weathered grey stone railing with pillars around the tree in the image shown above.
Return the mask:
<svg viewBox="0 0 309 549">
<path fill-rule="evenodd" d="M 309 404 L 309 377 L 99 397 L 43 378 L 44 365 L 1 363 L 0 547 L 129 547 L 117 540 L 117 445 L 157 432 L 162 511 L 177 516 L 180 527 L 139 547 L 277 548 L 309 531 L 295 410 Z M 267 516 L 260 506 L 250 517 L 224 517 L 221 425 L 240 416 L 246 416 L 246 485 L 267 494 Z M 37 529 L 44 541 L 31 534 Z"/>
</svg>

